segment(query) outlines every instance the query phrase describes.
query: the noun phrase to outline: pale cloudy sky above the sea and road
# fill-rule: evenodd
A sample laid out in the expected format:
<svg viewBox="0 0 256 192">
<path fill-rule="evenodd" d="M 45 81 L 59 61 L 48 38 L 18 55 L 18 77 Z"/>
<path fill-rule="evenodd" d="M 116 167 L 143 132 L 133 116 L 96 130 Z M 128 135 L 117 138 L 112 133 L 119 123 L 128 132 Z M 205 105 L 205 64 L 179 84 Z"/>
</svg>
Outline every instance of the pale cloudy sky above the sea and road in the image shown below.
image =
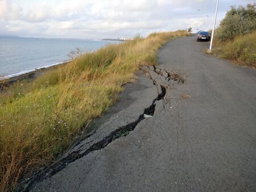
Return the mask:
<svg viewBox="0 0 256 192">
<path fill-rule="evenodd" d="M 0 0 L 0 35 L 102 39 L 212 28 L 216 0 Z M 219 0 L 217 25 L 232 5 Z M 198 11 L 200 10 L 200 11 Z"/>
</svg>

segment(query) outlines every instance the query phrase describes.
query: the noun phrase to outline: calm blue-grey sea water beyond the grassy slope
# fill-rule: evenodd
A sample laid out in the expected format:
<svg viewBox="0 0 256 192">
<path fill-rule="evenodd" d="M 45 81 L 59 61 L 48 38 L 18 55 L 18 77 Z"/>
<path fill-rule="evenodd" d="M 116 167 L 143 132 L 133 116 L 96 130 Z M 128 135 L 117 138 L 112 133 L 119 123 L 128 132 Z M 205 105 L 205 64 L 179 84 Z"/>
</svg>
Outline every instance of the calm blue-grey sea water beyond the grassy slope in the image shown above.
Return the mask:
<svg viewBox="0 0 256 192">
<path fill-rule="evenodd" d="M 80 48 L 94 51 L 115 41 L 0 37 L 0 75 L 26 72 L 68 60 L 68 53 Z"/>
</svg>

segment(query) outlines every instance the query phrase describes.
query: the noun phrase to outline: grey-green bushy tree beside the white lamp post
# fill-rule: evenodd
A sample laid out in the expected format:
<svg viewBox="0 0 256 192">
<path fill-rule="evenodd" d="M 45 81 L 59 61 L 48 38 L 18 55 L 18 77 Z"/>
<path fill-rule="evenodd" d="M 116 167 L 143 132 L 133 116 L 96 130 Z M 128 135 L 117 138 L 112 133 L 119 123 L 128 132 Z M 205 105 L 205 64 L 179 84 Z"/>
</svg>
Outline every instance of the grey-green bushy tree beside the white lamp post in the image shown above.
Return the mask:
<svg viewBox="0 0 256 192">
<path fill-rule="evenodd" d="M 256 30 L 256 4 L 246 7 L 232 6 L 226 13 L 217 30 L 217 37 L 221 41 L 232 40 L 236 36 L 249 34 Z"/>
</svg>

